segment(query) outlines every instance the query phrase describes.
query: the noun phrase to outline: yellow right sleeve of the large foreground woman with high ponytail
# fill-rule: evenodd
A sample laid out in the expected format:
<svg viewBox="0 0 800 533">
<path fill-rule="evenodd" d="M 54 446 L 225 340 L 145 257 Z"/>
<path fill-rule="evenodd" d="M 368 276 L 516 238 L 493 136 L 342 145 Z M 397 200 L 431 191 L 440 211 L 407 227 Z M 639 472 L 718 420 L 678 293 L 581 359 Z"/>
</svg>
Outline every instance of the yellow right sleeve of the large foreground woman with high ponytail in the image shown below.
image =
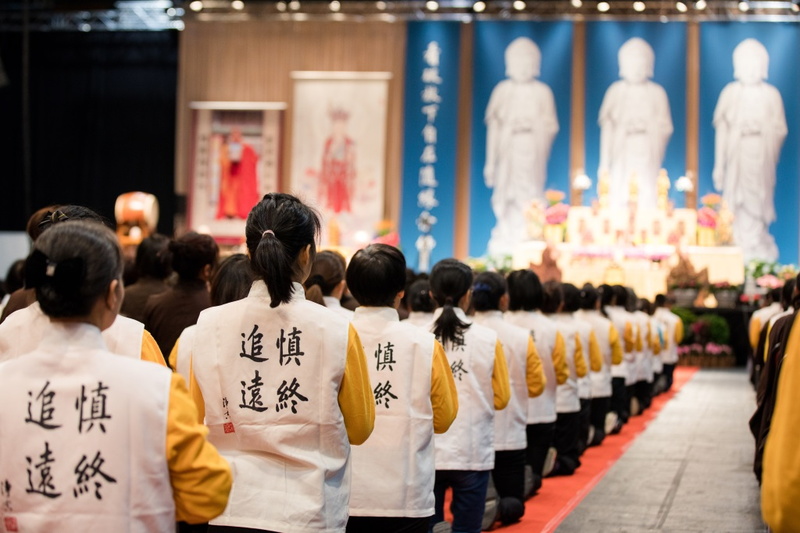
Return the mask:
<svg viewBox="0 0 800 533">
<path fill-rule="evenodd" d="M 364 347 L 352 325 L 347 337 L 347 362 L 339 389 L 339 408 L 350 444 L 363 444 L 375 427 L 375 396 L 369 383 Z"/>
</svg>

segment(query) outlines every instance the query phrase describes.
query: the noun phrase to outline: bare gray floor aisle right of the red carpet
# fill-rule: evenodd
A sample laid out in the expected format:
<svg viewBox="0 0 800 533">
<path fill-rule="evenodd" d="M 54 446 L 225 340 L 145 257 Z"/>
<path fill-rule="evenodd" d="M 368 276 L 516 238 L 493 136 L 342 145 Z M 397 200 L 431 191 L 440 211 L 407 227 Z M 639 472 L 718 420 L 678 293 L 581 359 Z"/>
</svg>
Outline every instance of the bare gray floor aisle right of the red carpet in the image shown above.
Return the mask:
<svg viewBox="0 0 800 533">
<path fill-rule="evenodd" d="M 744 370 L 701 370 L 559 532 L 763 532 Z"/>
</svg>

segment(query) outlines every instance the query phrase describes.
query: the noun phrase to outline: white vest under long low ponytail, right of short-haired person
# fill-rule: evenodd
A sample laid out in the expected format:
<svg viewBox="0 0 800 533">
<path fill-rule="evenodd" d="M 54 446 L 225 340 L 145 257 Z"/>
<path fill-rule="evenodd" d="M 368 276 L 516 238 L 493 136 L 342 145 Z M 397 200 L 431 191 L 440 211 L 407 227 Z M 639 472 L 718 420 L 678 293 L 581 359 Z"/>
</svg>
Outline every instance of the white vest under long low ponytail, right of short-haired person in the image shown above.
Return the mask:
<svg viewBox="0 0 800 533">
<path fill-rule="evenodd" d="M 438 318 L 442 310 L 433 314 Z M 456 315 L 470 323 L 459 308 Z M 429 328 L 433 329 L 433 324 Z M 464 332 L 464 344 L 445 344 L 447 361 L 458 392 L 458 416 L 447 433 L 436 435 L 437 470 L 491 470 L 494 468 L 494 373 L 497 333 L 479 324 Z"/>
</svg>

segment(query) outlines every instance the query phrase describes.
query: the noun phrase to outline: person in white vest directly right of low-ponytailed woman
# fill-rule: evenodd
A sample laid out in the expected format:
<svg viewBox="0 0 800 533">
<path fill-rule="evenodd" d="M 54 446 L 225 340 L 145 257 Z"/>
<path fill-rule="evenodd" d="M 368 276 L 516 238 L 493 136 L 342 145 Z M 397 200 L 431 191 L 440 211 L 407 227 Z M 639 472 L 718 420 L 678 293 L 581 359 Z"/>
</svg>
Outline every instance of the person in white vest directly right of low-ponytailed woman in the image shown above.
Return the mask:
<svg viewBox="0 0 800 533">
<path fill-rule="evenodd" d="M 502 275 L 478 274 L 472 285 L 472 307 L 475 323 L 497 332 L 508 364 L 511 400 L 494 417 L 492 479 L 500 497 L 497 519 L 502 524 L 512 524 L 525 513 L 528 398 L 542 394 L 546 380 L 530 330 L 503 318 L 503 311 L 508 309 L 508 293 Z"/>
</svg>

